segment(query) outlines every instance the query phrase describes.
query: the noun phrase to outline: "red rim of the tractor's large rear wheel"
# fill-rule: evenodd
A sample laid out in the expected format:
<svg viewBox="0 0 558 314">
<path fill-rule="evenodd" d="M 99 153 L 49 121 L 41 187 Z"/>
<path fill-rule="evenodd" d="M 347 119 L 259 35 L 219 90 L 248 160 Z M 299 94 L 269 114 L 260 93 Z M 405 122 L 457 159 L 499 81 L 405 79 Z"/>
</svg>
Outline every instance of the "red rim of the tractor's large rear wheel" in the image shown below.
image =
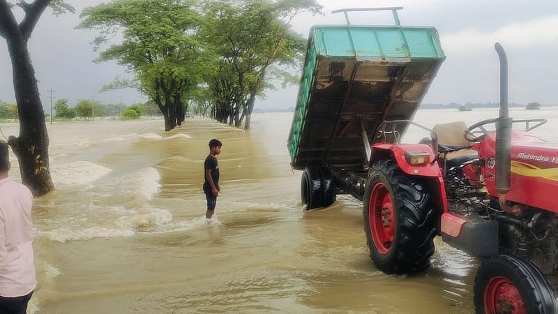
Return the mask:
<svg viewBox="0 0 558 314">
<path fill-rule="evenodd" d="M 395 214 L 389 190 L 382 183 L 377 183 L 370 192 L 368 223 L 377 250 L 382 254 L 388 253 L 395 234 Z"/>
</svg>

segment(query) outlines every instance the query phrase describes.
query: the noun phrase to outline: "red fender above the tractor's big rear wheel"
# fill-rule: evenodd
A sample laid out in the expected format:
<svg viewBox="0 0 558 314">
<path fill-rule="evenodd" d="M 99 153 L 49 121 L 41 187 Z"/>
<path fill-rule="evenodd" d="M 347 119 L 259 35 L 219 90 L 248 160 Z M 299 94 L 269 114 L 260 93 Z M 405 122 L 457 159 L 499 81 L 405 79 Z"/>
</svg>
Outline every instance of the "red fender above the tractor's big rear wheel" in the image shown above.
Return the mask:
<svg viewBox="0 0 558 314">
<path fill-rule="evenodd" d="M 405 152 L 407 151 L 425 151 L 430 154 L 430 163 L 426 165 L 411 165 Z M 440 209 L 440 213 L 448 211 L 448 204 L 446 198 L 446 188 L 444 187 L 444 179 L 442 177 L 442 170 L 435 161 L 434 151 L 432 147 L 425 144 L 393 144 L 393 143 L 375 143 L 372 144 L 372 156 L 370 157 L 369 166 L 377 163 L 379 160 L 392 159 L 398 164 L 400 170 L 406 174 L 415 177 L 425 177 L 428 185 L 432 190 L 432 195 L 435 198 L 435 203 Z"/>
</svg>

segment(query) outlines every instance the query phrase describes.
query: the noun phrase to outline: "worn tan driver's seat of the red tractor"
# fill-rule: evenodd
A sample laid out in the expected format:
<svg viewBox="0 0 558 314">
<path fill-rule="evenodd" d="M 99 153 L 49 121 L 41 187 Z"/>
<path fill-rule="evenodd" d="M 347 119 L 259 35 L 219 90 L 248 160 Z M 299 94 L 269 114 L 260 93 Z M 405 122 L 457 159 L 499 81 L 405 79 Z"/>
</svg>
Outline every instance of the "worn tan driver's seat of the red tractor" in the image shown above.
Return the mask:
<svg viewBox="0 0 558 314">
<path fill-rule="evenodd" d="M 463 121 L 436 124 L 434 130 L 438 137 L 439 158 L 446 159 L 450 166 L 461 165 L 478 158 L 477 151 L 471 149 L 473 142 L 465 139 L 467 124 Z M 447 154 L 444 154 L 446 153 Z"/>
</svg>

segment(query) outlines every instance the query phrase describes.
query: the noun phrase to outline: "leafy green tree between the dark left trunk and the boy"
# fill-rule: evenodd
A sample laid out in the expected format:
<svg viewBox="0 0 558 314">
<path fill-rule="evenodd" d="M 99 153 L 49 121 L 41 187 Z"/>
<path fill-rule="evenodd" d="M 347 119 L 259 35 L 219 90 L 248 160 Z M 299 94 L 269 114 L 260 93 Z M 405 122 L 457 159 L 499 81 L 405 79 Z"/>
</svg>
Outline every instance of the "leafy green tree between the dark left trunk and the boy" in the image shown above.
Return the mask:
<svg viewBox="0 0 558 314">
<path fill-rule="evenodd" d="M 187 94 L 200 81 L 204 54 L 196 38 L 201 21 L 193 0 L 116 0 L 86 8 L 82 29 L 98 29 L 96 48 L 121 32 L 122 42 L 97 61 L 116 60 L 135 80 L 112 87 L 135 87 L 163 113 L 165 130 L 184 121 Z"/>
</svg>

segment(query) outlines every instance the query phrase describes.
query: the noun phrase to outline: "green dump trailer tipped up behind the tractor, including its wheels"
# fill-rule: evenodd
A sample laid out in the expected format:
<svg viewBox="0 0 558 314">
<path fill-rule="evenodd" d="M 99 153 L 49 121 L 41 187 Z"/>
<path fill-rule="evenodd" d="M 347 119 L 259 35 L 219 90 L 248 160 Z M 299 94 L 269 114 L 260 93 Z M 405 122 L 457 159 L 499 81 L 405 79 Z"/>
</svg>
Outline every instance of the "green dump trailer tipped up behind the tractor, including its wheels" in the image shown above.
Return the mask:
<svg viewBox="0 0 558 314">
<path fill-rule="evenodd" d="M 414 117 L 445 59 L 434 27 L 401 26 L 400 8 L 383 9 L 392 10 L 395 25 L 310 29 L 287 142 L 292 167 L 305 170 L 301 196 L 311 203 L 308 209 L 329 206 L 335 193 L 362 198 L 360 184 L 368 173 L 370 145 L 380 140 L 379 126 Z M 354 9 L 344 10 L 346 16 L 348 10 Z M 397 124 L 392 140 L 407 126 Z M 318 178 L 322 191 L 312 188 Z"/>
</svg>

